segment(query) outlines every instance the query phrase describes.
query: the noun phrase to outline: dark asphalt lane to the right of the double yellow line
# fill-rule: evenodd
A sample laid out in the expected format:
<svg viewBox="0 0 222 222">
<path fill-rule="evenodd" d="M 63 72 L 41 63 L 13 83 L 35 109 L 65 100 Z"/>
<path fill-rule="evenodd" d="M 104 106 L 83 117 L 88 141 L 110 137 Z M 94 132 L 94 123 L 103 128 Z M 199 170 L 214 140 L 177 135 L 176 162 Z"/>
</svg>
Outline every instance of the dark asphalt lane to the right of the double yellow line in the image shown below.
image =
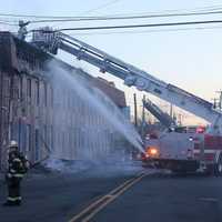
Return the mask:
<svg viewBox="0 0 222 222">
<path fill-rule="evenodd" d="M 221 222 L 222 179 L 153 174 L 143 178 L 93 222 Z"/>
</svg>

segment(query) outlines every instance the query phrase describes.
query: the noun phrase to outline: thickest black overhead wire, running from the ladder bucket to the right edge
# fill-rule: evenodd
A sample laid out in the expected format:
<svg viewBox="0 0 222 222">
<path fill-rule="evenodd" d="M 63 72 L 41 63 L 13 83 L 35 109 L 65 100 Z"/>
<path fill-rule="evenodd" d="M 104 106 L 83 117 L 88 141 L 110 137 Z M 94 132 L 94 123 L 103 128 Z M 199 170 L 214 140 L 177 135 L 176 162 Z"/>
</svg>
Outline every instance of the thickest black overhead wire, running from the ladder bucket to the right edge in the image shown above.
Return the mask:
<svg viewBox="0 0 222 222">
<path fill-rule="evenodd" d="M 129 24 L 129 26 L 102 26 L 102 27 L 79 27 L 79 28 L 64 28 L 52 31 L 31 30 L 42 32 L 59 32 L 59 31 L 84 31 L 84 30 L 111 30 L 111 29 L 137 29 L 137 28 L 152 28 L 152 27 L 175 27 L 175 26 L 195 26 L 195 24 L 212 24 L 222 23 L 222 20 L 208 20 L 208 21 L 185 21 L 185 22 L 167 22 L 167 23 L 149 23 L 149 24 Z"/>
</svg>

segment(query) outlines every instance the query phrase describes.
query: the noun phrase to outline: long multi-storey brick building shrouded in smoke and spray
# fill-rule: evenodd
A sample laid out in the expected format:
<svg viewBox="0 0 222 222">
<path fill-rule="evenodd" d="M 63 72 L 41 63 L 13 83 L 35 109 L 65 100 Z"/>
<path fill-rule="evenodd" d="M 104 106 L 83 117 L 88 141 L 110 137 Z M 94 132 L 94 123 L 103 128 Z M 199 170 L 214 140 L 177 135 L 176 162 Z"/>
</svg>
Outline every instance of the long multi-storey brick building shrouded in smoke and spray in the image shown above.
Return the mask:
<svg viewBox="0 0 222 222">
<path fill-rule="evenodd" d="M 114 142 L 120 141 L 104 118 L 87 102 L 70 89 L 52 83 L 46 69 L 51 60 L 101 89 L 120 109 L 125 107 L 124 93 L 114 85 L 54 59 L 9 32 L 0 32 L 1 167 L 11 139 L 19 142 L 32 162 L 50 152 L 62 159 L 81 159 L 85 153 L 87 158 L 93 158 L 110 152 Z"/>
</svg>

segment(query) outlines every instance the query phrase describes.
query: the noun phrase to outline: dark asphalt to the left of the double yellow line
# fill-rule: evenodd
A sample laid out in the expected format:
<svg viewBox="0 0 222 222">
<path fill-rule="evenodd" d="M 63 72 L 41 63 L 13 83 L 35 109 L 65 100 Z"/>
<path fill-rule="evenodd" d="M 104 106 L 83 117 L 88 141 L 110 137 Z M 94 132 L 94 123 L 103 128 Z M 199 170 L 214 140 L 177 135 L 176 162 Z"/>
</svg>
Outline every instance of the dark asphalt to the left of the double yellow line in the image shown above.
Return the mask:
<svg viewBox="0 0 222 222">
<path fill-rule="evenodd" d="M 0 205 L 0 221 L 67 222 L 141 170 L 128 167 L 102 164 L 74 173 L 28 174 L 22 181 L 23 204 L 13 208 Z M 0 184 L 0 203 L 4 202 L 6 195 L 6 185 Z"/>
</svg>

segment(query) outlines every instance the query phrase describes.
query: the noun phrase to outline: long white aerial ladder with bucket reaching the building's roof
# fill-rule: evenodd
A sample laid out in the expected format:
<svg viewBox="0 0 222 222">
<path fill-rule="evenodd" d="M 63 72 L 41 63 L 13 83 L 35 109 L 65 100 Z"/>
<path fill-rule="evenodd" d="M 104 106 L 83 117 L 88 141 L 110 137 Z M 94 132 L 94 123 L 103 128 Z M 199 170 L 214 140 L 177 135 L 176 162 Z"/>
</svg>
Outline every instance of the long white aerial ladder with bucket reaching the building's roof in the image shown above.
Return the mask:
<svg viewBox="0 0 222 222">
<path fill-rule="evenodd" d="M 57 54 L 59 49 L 63 50 L 79 60 L 98 67 L 102 73 L 109 72 L 122 79 L 124 84 L 129 87 L 135 87 L 140 91 L 149 92 L 206 120 L 211 123 L 211 130 L 214 134 L 222 132 L 222 112 L 215 110 L 211 102 L 159 80 L 104 51 L 49 28 L 36 30 L 32 43 L 53 54 Z"/>
</svg>

